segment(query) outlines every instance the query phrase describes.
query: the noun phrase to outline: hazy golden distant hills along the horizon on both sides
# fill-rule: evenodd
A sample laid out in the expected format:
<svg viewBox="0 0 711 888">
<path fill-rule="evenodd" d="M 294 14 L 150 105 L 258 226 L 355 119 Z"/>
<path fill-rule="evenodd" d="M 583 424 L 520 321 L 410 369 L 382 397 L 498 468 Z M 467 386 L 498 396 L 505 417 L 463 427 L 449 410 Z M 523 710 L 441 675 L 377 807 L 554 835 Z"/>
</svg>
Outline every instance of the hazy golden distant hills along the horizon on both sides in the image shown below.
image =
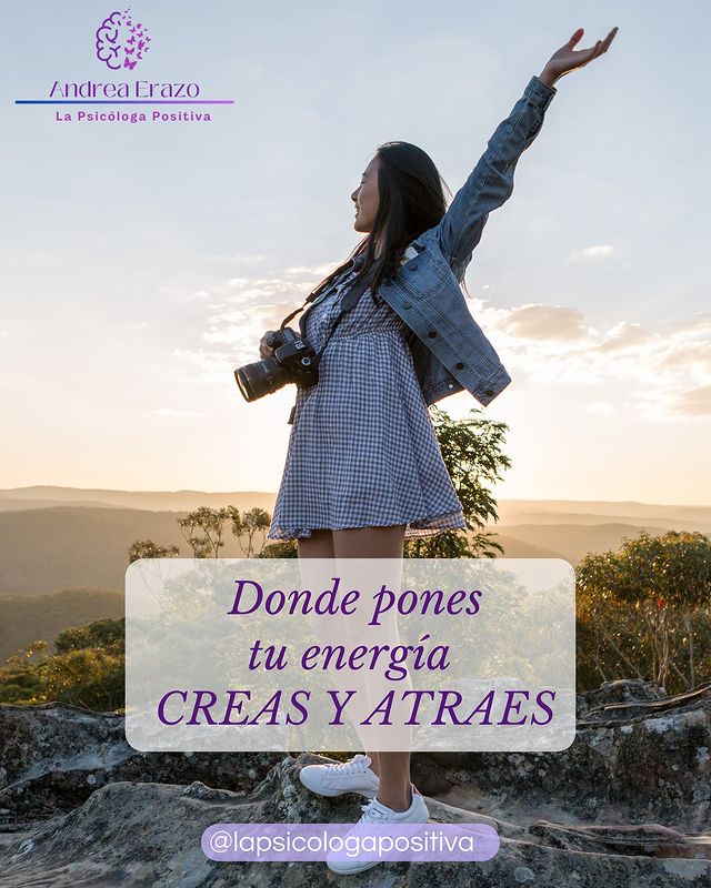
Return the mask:
<svg viewBox="0 0 711 888">
<path fill-rule="evenodd" d="M 254 506 L 271 513 L 263 492 L 109 491 L 16 487 L 0 491 L 0 594 L 43 594 L 66 586 L 122 589 L 129 546 L 137 539 L 192 552 L 177 519 L 201 505 Z M 504 557 L 565 558 L 618 548 L 640 531 L 711 533 L 711 507 L 635 502 L 501 500 L 495 533 Z M 243 557 L 228 533 L 224 557 Z"/>
</svg>

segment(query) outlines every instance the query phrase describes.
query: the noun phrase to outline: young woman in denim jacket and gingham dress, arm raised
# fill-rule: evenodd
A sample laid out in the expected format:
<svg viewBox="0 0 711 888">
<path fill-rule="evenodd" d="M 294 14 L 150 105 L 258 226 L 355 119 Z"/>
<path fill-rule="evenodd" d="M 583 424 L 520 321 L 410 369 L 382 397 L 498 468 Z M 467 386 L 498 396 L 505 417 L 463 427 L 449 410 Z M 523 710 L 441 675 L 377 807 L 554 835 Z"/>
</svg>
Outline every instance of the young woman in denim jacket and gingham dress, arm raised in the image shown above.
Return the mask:
<svg viewBox="0 0 711 888">
<path fill-rule="evenodd" d="M 437 168 L 415 145 L 387 142 L 365 168 L 351 200 L 354 229 L 367 236 L 317 287 L 302 319 L 318 350 L 341 300 L 354 282 L 369 281 L 328 339 L 319 382 L 297 391 L 268 538 L 297 538 L 299 558 L 401 558 L 407 537 L 465 529 L 428 405 L 464 387 L 487 404 L 510 377 L 452 287 L 463 280 L 489 212 L 511 194 L 515 162 L 538 134 L 553 83 L 607 52 L 617 30 L 575 51 L 580 28 L 553 53 L 449 210 Z M 273 353 L 270 332 L 262 357 Z M 408 751 L 309 766 L 301 780 L 322 795 L 370 798 L 364 821 L 428 818 Z M 375 862 L 329 866 L 354 872 Z"/>
</svg>

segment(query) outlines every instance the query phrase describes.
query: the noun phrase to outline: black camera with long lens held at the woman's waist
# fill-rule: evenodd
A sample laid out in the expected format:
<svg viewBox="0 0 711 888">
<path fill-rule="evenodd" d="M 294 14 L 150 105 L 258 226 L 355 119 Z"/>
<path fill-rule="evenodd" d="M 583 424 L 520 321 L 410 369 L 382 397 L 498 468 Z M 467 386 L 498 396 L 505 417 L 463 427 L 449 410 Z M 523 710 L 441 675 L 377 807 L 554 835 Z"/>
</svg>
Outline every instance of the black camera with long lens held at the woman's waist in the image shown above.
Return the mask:
<svg viewBox="0 0 711 888">
<path fill-rule="evenodd" d="M 234 371 L 234 379 L 247 401 L 272 394 L 287 383 L 293 382 L 298 389 L 308 389 L 319 381 L 316 351 L 291 327 L 276 330 L 266 339 L 266 344 L 274 349 L 271 357 L 244 364 Z"/>
</svg>

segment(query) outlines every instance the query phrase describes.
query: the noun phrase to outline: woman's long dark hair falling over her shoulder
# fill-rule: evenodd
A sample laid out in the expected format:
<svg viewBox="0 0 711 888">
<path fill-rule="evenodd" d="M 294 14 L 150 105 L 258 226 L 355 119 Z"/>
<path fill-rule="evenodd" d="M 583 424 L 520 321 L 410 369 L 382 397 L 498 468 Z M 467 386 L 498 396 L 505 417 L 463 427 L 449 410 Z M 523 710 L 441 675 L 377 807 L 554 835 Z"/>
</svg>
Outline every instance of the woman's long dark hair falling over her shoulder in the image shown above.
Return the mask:
<svg viewBox="0 0 711 888">
<path fill-rule="evenodd" d="M 316 287 L 321 292 L 356 256 L 364 255 L 353 283 L 372 272 L 370 293 L 377 299 L 378 287 L 393 278 L 408 244 L 442 219 L 447 212 L 444 190 L 451 195 L 430 155 L 410 142 L 383 142 L 375 150 L 380 202 L 372 230 L 354 246 L 350 255 Z M 375 243 L 383 249 L 375 259 Z"/>
</svg>

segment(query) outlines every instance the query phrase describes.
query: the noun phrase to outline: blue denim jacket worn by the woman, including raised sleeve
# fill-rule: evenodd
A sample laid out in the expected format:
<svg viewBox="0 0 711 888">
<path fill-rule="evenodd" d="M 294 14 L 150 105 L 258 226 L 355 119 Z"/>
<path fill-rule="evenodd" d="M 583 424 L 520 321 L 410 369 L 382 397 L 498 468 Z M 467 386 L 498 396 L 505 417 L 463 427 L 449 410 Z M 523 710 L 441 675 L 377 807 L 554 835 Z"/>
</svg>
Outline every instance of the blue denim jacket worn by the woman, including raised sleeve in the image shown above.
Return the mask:
<svg viewBox="0 0 711 888">
<path fill-rule="evenodd" d="M 538 135 L 557 91 L 531 78 L 447 213 L 412 241 L 395 276 L 378 290 L 412 331 L 410 349 L 428 405 L 465 389 L 487 406 L 511 382 L 460 283 L 489 213 L 511 196 L 517 161 Z"/>
</svg>

